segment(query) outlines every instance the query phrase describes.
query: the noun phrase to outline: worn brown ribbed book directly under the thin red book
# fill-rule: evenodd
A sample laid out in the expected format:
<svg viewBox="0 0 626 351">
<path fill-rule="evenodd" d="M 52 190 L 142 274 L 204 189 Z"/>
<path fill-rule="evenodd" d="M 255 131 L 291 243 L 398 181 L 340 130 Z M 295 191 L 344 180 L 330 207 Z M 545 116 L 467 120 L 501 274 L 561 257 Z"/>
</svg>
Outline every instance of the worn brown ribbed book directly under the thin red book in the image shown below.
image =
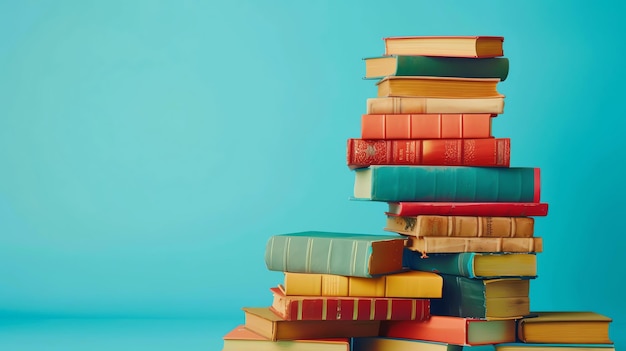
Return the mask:
<svg viewBox="0 0 626 351">
<path fill-rule="evenodd" d="M 393 216 L 386 231 L 411 236 L 517 237 L 533 236 L 532 217 Z"/>
</svg>

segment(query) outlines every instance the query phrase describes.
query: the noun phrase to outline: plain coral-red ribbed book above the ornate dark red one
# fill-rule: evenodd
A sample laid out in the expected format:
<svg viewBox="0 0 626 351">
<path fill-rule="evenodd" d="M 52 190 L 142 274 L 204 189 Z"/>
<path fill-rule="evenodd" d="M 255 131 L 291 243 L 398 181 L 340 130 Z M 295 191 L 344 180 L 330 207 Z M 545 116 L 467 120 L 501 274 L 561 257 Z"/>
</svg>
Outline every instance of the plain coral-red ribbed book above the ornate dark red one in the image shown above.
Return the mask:
<svg viewBox="0 0 626 351">
<path fill-rule="evenodd" d="M 491 138 L 488 113 L 366 114 L 362 139 L 481 139 Z"/>
</svg>

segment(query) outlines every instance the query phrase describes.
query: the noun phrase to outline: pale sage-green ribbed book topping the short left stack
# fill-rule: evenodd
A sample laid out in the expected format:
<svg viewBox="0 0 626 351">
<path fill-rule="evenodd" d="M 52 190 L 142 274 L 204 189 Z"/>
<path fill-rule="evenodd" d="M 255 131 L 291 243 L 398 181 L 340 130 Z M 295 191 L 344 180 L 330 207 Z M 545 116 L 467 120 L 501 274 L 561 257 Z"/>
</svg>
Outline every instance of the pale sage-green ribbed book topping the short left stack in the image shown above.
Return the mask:
<svg viewBox="0 0 626 351">
<path fill-rule="evenodd" d="M 301 232 L 274 235 L 265 248 L 269 270 L 373 277 L 403 271 L 401 235 Z"/>
</svg>

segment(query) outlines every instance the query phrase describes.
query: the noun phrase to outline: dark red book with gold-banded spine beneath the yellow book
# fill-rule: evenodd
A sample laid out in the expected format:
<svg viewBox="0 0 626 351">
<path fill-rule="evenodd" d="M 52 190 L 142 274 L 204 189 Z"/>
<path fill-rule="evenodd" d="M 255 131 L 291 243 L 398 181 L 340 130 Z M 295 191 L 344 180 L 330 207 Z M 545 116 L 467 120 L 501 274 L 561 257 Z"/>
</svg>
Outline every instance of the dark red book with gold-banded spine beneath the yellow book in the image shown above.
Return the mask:
<svg viewBox="0 0 626 351">
<path fill-rule="evenodd" d="M 287 296 L 279 287 L 270 290 L 274 294 L 270 310 L 284 320 L 422 321 L 430 317 L 430 299 Z"/>
</svg>

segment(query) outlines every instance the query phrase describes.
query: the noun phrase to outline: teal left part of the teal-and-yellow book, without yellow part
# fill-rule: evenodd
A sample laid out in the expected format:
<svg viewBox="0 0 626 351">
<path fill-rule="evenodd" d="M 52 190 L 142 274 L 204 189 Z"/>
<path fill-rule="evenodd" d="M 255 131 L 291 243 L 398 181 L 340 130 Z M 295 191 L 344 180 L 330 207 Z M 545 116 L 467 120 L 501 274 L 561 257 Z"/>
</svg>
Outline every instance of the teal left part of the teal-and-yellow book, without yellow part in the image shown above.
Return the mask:
<svg viewBox="0 0 626 351">
<path fill-rule="evenodd" d="M 410 250 L 403 255 L 404 265 L 410 269 L 467 278 L 477 278 L 473 268 L 475 257 L 475 252 L 460 252 L 435 254 L 426 258 Z"/>
</svg>

